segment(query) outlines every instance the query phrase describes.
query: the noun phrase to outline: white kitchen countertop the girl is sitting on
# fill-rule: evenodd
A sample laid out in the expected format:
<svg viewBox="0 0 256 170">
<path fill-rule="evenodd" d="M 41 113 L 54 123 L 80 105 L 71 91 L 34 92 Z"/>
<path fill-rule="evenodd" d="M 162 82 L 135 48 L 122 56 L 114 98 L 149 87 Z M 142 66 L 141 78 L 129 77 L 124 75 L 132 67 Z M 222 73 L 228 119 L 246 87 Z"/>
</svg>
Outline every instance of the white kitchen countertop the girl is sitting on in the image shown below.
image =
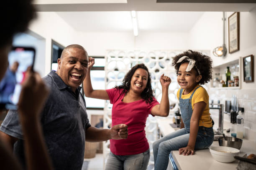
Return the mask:
<svg viewBox="0 0 256 170">
<path fill-rule="evenodd" d="M 175 131 L 171 127 L 171 118 L 157 118 L 158 126 L 163 135 L 167 135 Z M 219 146 L 218 141 L 214 141 L 211 146 Z M 256 143 L 250 140 L 243 139 L 243 144 L 241 147 L 241 152 L 239 156 L 245 155 L 247 153 L 256 153 Z M 178 150 L 172 151 L 172 156 L 174 161 L 179 168 L 179 170 L 236 170 L 238 165 L 238 160 L 233 163 L 220 163 L 212 158 L 209 149 L 196 150 L 195 155 L 179 155 Z"/>
</svg>

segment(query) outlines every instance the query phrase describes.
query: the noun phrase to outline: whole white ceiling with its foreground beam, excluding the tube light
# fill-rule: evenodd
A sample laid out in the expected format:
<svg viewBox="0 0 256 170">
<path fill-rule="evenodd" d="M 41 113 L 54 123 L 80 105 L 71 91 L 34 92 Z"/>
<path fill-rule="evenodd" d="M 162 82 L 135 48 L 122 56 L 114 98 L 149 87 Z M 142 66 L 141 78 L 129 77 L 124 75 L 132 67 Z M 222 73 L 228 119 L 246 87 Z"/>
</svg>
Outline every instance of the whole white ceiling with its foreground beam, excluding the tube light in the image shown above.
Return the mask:
<svg viewBox="0 0 256 170">
<path fill-rule="evenodd" d="M 225 0 L 236 3 L 207 3 L 209 0 L 197 0 L 206 3 L 194 3 L 193 1 L 196 2 L 195 0 L 183 0 L 189 3 L 157 3 L 157 0 L 35 0 L 34 4 L 38 11 L 57 12 L 63 20 L 81 32 L 132 31 L 131 10 L 137 11 L 139 32 L 187 32 L 205 11 L 242 12 L 256 7 L 256 3 L 243 3 L 253 0 Z"/>
</svg>

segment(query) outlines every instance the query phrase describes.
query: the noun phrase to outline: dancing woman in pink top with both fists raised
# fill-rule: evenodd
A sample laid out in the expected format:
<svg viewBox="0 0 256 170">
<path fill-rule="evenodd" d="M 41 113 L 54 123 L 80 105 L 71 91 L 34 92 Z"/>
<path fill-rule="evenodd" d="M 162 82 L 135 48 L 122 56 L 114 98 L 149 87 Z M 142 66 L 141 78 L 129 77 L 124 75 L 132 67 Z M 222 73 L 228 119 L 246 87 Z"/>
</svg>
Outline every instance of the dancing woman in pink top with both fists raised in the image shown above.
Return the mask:
<svg viewBox="0 0 256 170">
<path fill-rule="evenodd" d="M 89 58 L 88 69 L 94 65 Z M 123 84 L 108 90 L 94 90 L 90 71 L 84 79 L 86 97 L 110 100 L 112 107 L 112 125 L 124 123 L 128 126 L 128 138 L 110 140 L 110 155 L 105 170 L 146 170 L 150 150 L 146 139 L 145 126 L 149 114 L 166 117 L 169 115 L 168 87 L 171 79 L 161 75 L 161 102 L 153 96 L 148 68 L 138 64 L 125 75 Z M 122 132 L 119 132 L 122 135 Z"/>
</svg>

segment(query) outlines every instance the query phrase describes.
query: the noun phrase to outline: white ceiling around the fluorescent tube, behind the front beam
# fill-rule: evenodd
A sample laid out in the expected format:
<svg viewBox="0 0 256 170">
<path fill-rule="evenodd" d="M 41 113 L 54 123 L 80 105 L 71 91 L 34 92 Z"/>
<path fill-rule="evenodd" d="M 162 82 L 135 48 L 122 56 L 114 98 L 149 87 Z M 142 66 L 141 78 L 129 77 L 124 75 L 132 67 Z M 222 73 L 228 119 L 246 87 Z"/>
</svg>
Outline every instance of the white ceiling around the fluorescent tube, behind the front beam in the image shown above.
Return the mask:
<svg viewBox="0 0 256 170">
<path fill-rule="evenodd" d="M 81 32 L 133 31 L 130 11 L 57 12 Z M 137 11 L 139 32 L 188 32 L 203 12 Z"/>
</svg>

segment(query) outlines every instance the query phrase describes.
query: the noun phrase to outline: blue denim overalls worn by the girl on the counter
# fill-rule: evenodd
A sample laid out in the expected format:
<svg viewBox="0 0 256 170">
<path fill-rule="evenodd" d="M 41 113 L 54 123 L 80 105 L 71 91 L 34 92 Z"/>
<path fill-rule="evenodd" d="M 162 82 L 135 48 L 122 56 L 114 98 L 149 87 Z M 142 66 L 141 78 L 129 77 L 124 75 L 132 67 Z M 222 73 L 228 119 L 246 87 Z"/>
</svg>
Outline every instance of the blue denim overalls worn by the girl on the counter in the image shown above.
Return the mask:
<svg viewBox="0 0 256 170">
<path fill-rule="evenodd" d="M 202 86 L 199 86 L 202 87 Z M 188 99 L 182 99 L 183 89 L 179 92 L 179 107 L 182 115 L 182 120 L 185 128 L 176 130 L 153 143 L 155 170 L 166 170 L 169 163 L 169 155 L 172 150 L 179 150 L 187 146 L 189 141 L 190 120 L 192 117 L 191 100 L 197 87 Z M 212 123 L 214 123 L 212 121 Z M 195 143 L 195 150 L 208 148 L 214 138 L 213 129 L 199 126 L 197 139 Z"/>
</svg>

